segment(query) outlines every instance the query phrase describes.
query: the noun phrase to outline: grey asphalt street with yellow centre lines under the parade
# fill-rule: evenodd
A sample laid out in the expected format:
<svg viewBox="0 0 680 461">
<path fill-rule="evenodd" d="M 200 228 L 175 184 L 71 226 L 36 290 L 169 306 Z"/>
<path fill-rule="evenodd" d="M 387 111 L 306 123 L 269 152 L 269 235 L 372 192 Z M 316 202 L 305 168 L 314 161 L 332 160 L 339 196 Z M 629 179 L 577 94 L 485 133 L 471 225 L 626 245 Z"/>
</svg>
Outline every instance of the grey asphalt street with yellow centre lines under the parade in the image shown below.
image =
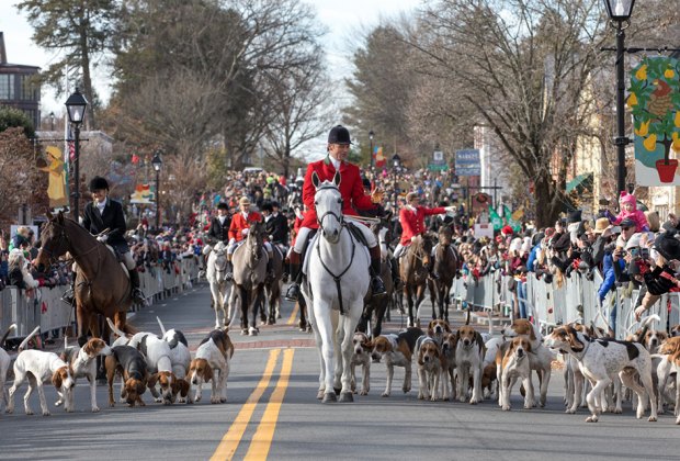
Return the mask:
<svg viewBox="0 0 680 461">
<path fill-rule="evenodd" d="M 474 406 L 418 401 L 416 372 L 412 391 L 404 394 L 401 369 L 395 371 L 392 396 L 384 398 L 382 363 L 372 367 L 367 396 L 356 396 L 353 404 L 322 405 L 316 400 L 318 359 L 313 336 L 293 325 L 292 311 L 284 302 L 283 318 L 275 326 L 262 326 L 260 336 L 231 333 L 237 350 L 226 404 L 212 405 L 204 390 L 204 400 L 194 405 L 162 406 L 152 403 L 147 392 L 146 407 L 116 404 L 109 408 L 106 386 L 99 386 L 102 411 L 93 414 L 88 384 L 80 381 L 75 413 L 55 408 L 55 390 L 46 385 L 52 416 L 39 416 L 35 394 L 31 404 L 38 415 L 26 416 L 22 387 L 15 413 L 0 415 L 0 459 L 680 458 L 680 427 L 672 415 L 660 415 L 658 423 L 638 420 L 630 404 L 623 415 L 604 414 L 597 424 L 585 423 L 586 409 L 565 414 L 558 371 L 553 373 L 547 406 L 531 411 L 522 409 L 517 390 L 511 412 L 500 411 L 491 401 Z M 158 333 L 157 315 L 167 328 L 183 330 L 192 350 L 214 325 L 205 286 L 147 307 L 132 323 Z M 400 316 L 394 313 L 393 321 L 386 333 L 399 329 Z"/>
</svg>

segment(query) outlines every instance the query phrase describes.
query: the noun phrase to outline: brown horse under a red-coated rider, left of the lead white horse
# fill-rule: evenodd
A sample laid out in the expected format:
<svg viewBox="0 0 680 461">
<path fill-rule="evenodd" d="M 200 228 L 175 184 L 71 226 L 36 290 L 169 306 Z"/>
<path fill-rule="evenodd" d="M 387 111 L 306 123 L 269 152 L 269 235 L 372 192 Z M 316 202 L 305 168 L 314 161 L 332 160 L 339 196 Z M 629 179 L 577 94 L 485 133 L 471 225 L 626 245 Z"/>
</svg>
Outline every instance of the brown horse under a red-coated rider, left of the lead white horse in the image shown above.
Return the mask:
<svg viewBox="0 0 680 461">
<path fill-rule="evenodd" d="M 264 301 L 267 250 L 262 244 L 262 223 L 250 226 L 246 243 L 234 251 L 234 284 L 241 304 L 241 335 L 258 334 L 258 306 Z M 258 304 L 260 303 L 260 304 Z M 248 314 L 252 318 L 248 326 Z"/>
</svg>

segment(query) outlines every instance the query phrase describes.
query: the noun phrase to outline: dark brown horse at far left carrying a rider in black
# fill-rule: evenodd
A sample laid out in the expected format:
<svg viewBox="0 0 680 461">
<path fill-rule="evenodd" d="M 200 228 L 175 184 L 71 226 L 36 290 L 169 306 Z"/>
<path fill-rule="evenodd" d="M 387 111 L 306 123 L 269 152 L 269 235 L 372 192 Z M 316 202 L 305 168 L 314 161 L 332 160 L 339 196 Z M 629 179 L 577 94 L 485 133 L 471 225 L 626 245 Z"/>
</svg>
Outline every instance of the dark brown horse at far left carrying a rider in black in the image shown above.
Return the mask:
<svg viewBox="0 0 680 461">
<path fill-rule="evenodd" d="M 101 337 L 97 314 L 111 318 L 125 333 L 136 333 L 125 324 L 132 283 L 114 254 L 61 212 L 56 216 L 48 213 L 47 217 L 35 263 L 43 271 L 68 251 L 78 265 L 73 294 L 79 342 L 87 340 L 88 330 Z"/>
</svg>

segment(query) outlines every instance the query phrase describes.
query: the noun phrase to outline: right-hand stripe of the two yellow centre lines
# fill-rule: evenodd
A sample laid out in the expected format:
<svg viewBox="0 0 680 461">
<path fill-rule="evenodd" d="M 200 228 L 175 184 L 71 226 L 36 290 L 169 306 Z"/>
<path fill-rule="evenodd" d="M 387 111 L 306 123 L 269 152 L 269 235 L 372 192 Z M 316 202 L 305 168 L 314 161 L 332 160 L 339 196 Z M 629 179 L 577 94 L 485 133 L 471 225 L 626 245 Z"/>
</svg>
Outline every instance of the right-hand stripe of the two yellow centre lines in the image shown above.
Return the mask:
<svg viewBox="0 0 680 461">
<path fill-rule="evenodd" d="M 269 454 L 272 440 L 274 439 L 274 430 L 276 430 L 281 404 L 283 403 L 285 391 L 288 387 L 294 355 L 295 349 L 286 349 L 283 351 L 283 364 L 281 366 L 279 382 L 276 382 L 276 387 L 269 398 L 262 419 L 250 442 L 248 453 L 246 453 L 246 458 L 243 458 L 245 460 L 265 460 Z"/>
</svg>

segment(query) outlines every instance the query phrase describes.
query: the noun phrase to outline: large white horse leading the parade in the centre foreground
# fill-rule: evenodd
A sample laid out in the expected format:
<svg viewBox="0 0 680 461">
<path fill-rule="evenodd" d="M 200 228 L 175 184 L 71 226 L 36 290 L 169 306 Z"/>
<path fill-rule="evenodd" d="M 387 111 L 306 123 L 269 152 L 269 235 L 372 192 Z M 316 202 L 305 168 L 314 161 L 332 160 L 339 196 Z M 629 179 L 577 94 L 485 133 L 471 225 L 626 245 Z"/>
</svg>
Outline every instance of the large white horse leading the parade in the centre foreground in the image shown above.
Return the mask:
<svg viewBox="0 0 680 461">
<path fill-rule="evenodd" d="M 317 398 L 324 403 L 353 402 L 351 389 L 352 338 L 369 292 L 369 250 L 359 244 L 344 223 L 340 175 L 319 182 L 316 173 L 314 203 L 319 234 L 309 246 L 307 282 L 303 295 L 314 326 L 321 371 Z M 361 224 L 359 224 L 361 225 Z M 336 351 L 339 353 L 336 356 Z"/>
</svg>

